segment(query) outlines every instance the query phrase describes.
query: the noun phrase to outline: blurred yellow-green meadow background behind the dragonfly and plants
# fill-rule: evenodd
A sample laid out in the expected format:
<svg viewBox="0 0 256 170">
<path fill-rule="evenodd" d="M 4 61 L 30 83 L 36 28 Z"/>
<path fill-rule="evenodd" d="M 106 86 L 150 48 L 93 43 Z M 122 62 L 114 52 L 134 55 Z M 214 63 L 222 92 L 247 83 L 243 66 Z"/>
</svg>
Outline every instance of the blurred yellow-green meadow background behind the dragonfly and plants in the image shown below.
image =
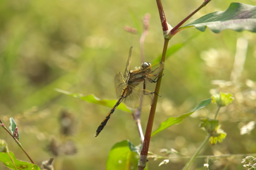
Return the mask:
<svg viewBox="0 0 256 170">
<path fill-rule="evenodd" d="M 167 22 L 175 26 L 203 0 L 162 1 Z M 224 11 L 231 0 L 211 1 L 189 21 L 214 11 Z M 255 0 L 240 2 L 256 5 Z M 139 35 L 126 32 L 125 26 L 143 28 L 142 18 L 149 13 L 150 27 L 145 39 L 145 61 L 151 62 L 162 52 L 163 36 L 155 1 L 116 0 L 1 0 L 0 3 L 0 118 L 5 125 L 14 117 L 20 142 L 37 164 L 53 157 L 46 150 L 50 139 L 60 137 L 59 115 L 65 109 L 77 121 L 74 140 L 78 153 L 63 157 L 63 170 L 104 170 L 108 152 L 116 142 L 129 139 L 139 144 L 132 116 L 116 111 L 101 134 L 95 131 L 110 108 L 86 103 L 54 88 L 99 98 L 116 98 L 114 76 L 124 71 L 129 47 L 133 46 L 132 67 L 140 66 Z M 188 22 L 187 22 L 188 23 Z M 169 46 L 186 42 L 199 31 L 195 28 L 178 33 Z M 236 42 L 248 42 L 241 75 L 230 82 L 234 69 Z M 244 44 L 243 43 L 243 44 Z M 246 43 L 245 43 L 246 44 Z M 220 110 L 218 119 L 227 133 L 221 144 L 207 145 L 201 155 L 256 153 L 256 131 L 240 135 L 240 128 L 256 116 L 256 34 L 209 29 L 188 42 L 165 62 L 153 130 L 171 116 L 191 111 L 211 93 L 234 95 L 230 106 Z M 243 56 L 242 56 L 243 57 Z M 245 56 L 244 56 L 245 57 Z M 212 81 L 224 80 L 224 81 Z M 153 90 L 149 89 L 149 90 Z M 146 127 L 150 107 L 143 107 L 142 126 Z M 195 112 L 182 124 L 155 135 L 150 151 L 162 155 L 161 148 L 174 148 L 192 155 L 206 132 L 198 128 L 200 118 L 213 118 L 214 104 Z M 12 138 L 0 129 L 0 138 L 20 160 L 29 161 Z M 244 169 L 242 158 L 214 159 L 211 169 Z M 150 169 L 175 169 L 187 160 L 174 159 L 158 167 L 161 160 L 150 160 Z M 197 159 L 192 169 L 203 167 Z M 0 164 L 0 169 L 4 165 Z"/>
</svg>

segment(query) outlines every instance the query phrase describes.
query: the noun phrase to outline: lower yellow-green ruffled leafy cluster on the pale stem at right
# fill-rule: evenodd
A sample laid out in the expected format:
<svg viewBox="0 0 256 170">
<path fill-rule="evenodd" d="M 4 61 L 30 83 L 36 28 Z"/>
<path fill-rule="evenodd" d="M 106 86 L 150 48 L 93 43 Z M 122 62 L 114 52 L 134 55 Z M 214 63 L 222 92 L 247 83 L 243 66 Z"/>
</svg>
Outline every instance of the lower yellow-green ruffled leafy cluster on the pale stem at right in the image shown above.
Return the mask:
<svg viewBox="0 0 256 170">
<path fill-rule="evenodd" d="M 219 120 L 202 119 L 201 121 L 199 127 L 204 128 L 211 135 L 209 138 L 210 145 L 213 146 L 218 141 L 221 143 L 225 139 L 226 133 L 220 129 Z"/>
</svg>

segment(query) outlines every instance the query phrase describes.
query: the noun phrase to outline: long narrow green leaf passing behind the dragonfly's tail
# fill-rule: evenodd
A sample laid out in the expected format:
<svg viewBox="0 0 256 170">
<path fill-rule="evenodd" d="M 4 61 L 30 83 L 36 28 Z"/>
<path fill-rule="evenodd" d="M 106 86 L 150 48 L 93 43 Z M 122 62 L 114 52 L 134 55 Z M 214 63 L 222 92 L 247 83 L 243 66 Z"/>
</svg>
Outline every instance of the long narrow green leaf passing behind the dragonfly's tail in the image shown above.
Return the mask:
<svg viewBox="0 0 256 170">
<path fill-rule="evenodd" d="M 68 92 L 68 91 L 65 91 L 65 90 L 60 90 L 60 89 L 55 89 L 55 91 L 58 91 L 60 93 L 63 93 L 65 95 L 68 95 L 68 96 L 71 96 L 71 97 L 79 98 L 79 99 L 84 100 L 84 101 L 89 102 L 89 103 L 98 104 L 98 105 L 101 105 L 101 106 L 107 106 L 107 107 L 110 107 L 110 108 L 112 108 L 114 106 L 114 104 L 116 104 L 116 102 L 117 102 L 117 100 L 100 99 L 100 98 L 96 97 L 94 94 L 84 96 L 84 95 L 79 94 L 79 93 L 71 93 L 71 92 Z M 126 107 L 126 105 L 123 104 L 123 103 L 120 103 L 119 106 L 117 107 L 117 109 L 125 111 L 125 112 L 132 113 L 132 111 L 130 111 L 130 109 L 128 109 Z"/>
</svg>

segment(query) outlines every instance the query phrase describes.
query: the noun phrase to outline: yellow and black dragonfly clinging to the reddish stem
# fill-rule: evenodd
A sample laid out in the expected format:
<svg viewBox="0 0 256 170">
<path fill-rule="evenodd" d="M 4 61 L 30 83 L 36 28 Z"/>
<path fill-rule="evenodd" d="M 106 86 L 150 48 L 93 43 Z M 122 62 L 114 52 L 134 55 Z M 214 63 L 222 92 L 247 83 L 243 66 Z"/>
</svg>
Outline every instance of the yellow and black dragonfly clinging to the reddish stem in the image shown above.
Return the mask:
<svg viewBox="0 0 256 170">
<path fill-rule="evenodd" d="M 164 64 L 160 62 L 160 66 L 152 70 L 152 67 L 156 64 L 151 65 L 148 62 L 143 62 L 140 67 L 135 67 L 134 70 L 130 70 L 132 49 L 133 47 L 130 47 L 129 57 L 126 64 L 126 70 L 124 71 L 124 75 L 119 72 L 114 78 L 116 95 L 118 97 L 118 100 L 116 104 L 112 107 L 110 112 L 108 112 L 105 119 L 101 122 L 100 126 L 98 126 L 94 137 L 97 137 L 100 134 L 100 132 L 106 126 L 107 121 L 110 119 L 111 115 L 114 113 L 114 111 L 122 101 L 124 101 L 124 103 L 130 108 L 138 108 L 144 103 L 148 103 L 149 101 L 151 103 L 153 101 L 153 94 L 155 92 L 151 92 L 145 89 L 146 81 L 148 80 L 150 83 L 156 83 L 159 80 L 156 80 L 156 78 L 158 78 L 156 76 L 163 69 Z M 158 71 L 155 74 L 154 72 L 156 72 L 156 70 Z M 156 78 L 151 79 L 150 77 Z M 138 85 L 141 83 L 143 83 L 143 89 L 140 89 L 138 87 Z"/>
</svg>

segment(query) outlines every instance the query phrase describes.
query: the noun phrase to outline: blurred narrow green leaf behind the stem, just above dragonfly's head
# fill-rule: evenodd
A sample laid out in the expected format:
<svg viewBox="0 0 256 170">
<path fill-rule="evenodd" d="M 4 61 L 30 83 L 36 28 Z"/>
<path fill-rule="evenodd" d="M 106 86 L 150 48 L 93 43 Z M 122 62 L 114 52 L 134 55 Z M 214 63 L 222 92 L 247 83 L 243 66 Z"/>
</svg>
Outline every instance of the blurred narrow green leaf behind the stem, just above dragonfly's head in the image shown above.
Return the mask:
<svg viewBox="0 0 256 170">
<path fill-rule="evenodd" d="M 194 34 L 193 36 L 191 36 L 191 38 L 189 38 L 187 41 L 185 42 L 180 42 L 180 43 L 177 43 L 177 44 L 174 44 L 173 46 L 171 46 L 169 49 L 167 49 L 166 51 L 166 58 L 169 58 L 171 55 L 173 55 L 175 52 L 177 52 L 178 50 L 180 50 L 183 46 L 185 46 L 188 42 L 190 42 L 191 40 L 193 40 L 194 38 L 196 38 L 198 35 L 200 35 L 201 33 L 196 33 Z M 159 55 L 154 61 L 152 64 L 155 64 L 155 63 L 158 63 L 161 61 L 161 58 L 162 58 L 162 54 Z"/>
</svg>

